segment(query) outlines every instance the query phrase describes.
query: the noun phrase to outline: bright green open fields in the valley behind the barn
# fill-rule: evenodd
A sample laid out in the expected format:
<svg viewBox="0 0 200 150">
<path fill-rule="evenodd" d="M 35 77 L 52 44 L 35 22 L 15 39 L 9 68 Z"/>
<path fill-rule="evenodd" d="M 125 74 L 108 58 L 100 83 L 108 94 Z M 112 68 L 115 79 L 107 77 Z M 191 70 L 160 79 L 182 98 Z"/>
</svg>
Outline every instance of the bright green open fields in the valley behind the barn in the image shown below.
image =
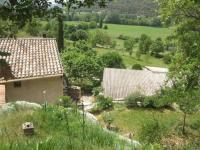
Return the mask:
<svg viewBox="0 0 200 150">
<path fill-rule="evenodd" d="M 70 21 L 67 24 L 78 24 L 80 22 Z M 104 54 L 109 51 L 117 51 L 121 54 L 125 65 L 131 68 L 133 64 L 141 64 L 143 66 L 155 66 L 155 67 L 168 67 L 162 59 L 158 59 L 149 55 L 142 55 L 140 60 L 135 58 L 135 52 L 138 49 L 136 46 L 133 50 L 132 56 L 124 51 L 123 40 L 118 39 L 119 35 L 126 35 L 130 37 L 140 37 L 141 34 L 147 34 L 152 39 L 158 37 L 165 38 L 173 32 L 173 28 L 159 28 L 159 27 L 146 27 L 146 26 L 134 26 L 134 25 L 117 25 L 117 24 L 106 24 L 108 26 L 107 30 L 103 30 L 108 33 L 108 35 L 117 42 L 115 49 L 105 49 L 105 48 L 95 48 L 98 54 Z M 94 32 L 95 29 L 89 32 Z"/>
</svg>

